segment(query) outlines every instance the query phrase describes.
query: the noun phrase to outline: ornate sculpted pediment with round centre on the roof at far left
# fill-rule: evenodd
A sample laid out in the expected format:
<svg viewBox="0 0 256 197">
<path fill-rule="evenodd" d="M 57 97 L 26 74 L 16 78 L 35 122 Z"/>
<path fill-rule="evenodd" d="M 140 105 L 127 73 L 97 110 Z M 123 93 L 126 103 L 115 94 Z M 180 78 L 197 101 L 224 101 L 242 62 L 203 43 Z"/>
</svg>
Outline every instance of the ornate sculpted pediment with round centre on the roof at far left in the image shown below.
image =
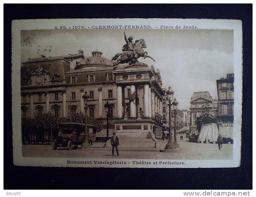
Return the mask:
<svg viewBox="0 0 256 197">
<path fill-rule="evenodd" d="M 50 84 L 50 72 L 43 69 L 42 66 L 38 66 L 35 70 L 30 72 L 29 85 L 45 85 Z"/>
</svg>

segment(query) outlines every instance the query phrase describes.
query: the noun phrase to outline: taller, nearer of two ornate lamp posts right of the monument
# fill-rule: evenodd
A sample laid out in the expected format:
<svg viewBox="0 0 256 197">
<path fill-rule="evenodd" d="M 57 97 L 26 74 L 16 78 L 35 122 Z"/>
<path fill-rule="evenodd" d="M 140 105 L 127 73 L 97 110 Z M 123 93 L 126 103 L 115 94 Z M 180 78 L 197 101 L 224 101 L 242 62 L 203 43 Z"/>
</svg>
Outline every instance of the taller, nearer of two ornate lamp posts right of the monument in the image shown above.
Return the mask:
<svg viewBox="0 0 256 197">
<path fill-rule="evenodd" d="M 169 140 L 168 143 L 166 144 L 164 150 L 161 150 L 161 152 L 171 152 L 171 150 L 176 149 L 175 144 L 173 144 L 172 141 L 172 134 L 171 134 L 171 105 L 172 105 L 172 100 L 173 100 L 173 90 L 169 86 L 169 89 L 166 92 L 167 95 L 167 100 L 169 102 Z"/>
</svg>

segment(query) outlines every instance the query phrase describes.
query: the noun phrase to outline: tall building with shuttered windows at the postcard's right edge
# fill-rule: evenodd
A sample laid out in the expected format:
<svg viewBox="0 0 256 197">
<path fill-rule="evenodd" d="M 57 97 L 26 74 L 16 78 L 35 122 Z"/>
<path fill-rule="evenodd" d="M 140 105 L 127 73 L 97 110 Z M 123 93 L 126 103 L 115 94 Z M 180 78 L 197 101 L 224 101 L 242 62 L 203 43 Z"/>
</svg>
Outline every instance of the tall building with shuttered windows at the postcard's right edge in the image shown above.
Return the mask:
<svg viewBox="0 0 256 197">
<path fill-rule="evenodd" d="M 218 114 L 220 122 L 234 122 L 234 73 L 216 80 L 218 91 Z"/>
</svg>

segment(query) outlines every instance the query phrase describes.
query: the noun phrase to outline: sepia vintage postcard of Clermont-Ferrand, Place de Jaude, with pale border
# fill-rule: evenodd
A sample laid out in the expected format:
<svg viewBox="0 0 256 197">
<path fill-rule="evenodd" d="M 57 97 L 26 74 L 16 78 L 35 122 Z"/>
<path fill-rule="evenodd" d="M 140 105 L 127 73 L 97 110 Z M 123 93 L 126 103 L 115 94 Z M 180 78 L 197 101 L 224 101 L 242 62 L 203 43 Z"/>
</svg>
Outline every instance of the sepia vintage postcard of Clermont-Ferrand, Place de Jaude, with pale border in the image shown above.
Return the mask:
<svg viewBox="0 0 256 197">
<path fill-rule="evenodd" d="M 14 165 L 240 166 L 242 22 L 12 22 Z"/>
</svg>

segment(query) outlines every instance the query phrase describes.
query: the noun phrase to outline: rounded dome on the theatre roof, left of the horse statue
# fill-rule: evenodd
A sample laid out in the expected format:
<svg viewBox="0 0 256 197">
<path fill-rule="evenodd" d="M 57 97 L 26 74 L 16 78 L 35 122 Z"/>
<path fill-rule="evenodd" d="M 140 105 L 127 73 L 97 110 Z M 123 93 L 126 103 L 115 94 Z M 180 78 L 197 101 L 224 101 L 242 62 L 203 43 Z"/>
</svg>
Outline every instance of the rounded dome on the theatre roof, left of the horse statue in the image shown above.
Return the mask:
<svg viewBox="0 0 256 197">
<path fill-rule="evenodd" d="M 88 69 L 88 68 L 99 68 L 99 67 L 112 67 L 113 63 L 110 59 L 102 57 L 101 51 L 93 51 L 92 56 L 86 57 L 77 63 L 75 70 L 77 69 Z"/>
</svg>

